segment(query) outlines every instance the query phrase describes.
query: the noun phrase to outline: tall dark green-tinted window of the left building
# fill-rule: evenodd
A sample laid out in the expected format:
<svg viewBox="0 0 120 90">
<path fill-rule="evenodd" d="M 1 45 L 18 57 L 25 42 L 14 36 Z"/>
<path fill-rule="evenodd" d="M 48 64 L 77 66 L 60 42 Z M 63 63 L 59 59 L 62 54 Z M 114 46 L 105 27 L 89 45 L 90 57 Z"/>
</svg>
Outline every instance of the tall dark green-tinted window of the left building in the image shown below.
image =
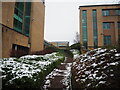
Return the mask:
<svg viewBox="0 0 120 90">
<path fill-rule="evenodd" d="M 16 2 L 15 3 L 14 29 L 18 32 L 23 33 L 26 36 L 29 36 L 30 14 L 31 14 L 31 2 L 26 2 L 26 3 Z"/>
</svg>

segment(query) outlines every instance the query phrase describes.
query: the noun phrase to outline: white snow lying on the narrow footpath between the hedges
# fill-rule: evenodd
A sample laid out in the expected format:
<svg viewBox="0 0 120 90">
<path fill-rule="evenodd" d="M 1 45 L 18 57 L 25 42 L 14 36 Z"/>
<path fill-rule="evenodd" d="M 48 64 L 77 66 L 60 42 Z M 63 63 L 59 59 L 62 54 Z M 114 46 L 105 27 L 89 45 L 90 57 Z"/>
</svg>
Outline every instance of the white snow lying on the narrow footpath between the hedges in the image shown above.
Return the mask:
<svg viewBox="0 0 120 90">
<path fill-rule="evenodd" d="M 49 86 L 47 86 L 47 82 L 51 82 L 50 80 L 54 80 L 55 77 L 63 77 L 63 79 L 60 81 L 62 85 L 65 86 L 65 90 L 69 90 L 71 86 L 71 65 L 72 63 L 62 63 L 61 65 L 65 65 L 65 69 L 54 69 L 49 75 L 46 76 L 45 84 L 43 85 L 44 89 L 47 89 Z"/>
</svg>

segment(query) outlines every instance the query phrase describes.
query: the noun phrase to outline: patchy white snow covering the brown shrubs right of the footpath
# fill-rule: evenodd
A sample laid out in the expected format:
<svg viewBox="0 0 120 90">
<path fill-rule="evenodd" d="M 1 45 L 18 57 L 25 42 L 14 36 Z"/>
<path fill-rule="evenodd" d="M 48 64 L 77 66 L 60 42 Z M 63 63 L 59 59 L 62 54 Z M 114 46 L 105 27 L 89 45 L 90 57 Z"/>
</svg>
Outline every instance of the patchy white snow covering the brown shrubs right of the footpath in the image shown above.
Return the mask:
<svg viewBox="0 0 120 90">
<path fill-rule="evenodd" d="M 115 76 L 112 68 L 120 65 L 119 59 L 120 53 L 116 49 L 98 48 L 79 55 L 73 62 L 76 82 L 84 82 L 86 88 L 91 87 L 93 82 L 96 83 L 93 87 L 105 84 L 109 76 Z"/>
</svg>

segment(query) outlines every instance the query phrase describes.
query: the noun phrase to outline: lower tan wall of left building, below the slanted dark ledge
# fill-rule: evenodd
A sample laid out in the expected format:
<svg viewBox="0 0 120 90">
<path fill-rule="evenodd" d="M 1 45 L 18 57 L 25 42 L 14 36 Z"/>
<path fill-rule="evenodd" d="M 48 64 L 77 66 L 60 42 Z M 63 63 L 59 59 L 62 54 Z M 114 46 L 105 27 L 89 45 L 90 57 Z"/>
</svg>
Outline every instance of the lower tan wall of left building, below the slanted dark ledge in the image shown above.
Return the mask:
<svg viewBox="0 0 120 90">
<path fill-rule="evenodd" d="M 28 47 L 28 37 L 6 27 L 2 29 L 2 41 L 2 57 L 10 57 L 13 44 Z"/>
</svg>

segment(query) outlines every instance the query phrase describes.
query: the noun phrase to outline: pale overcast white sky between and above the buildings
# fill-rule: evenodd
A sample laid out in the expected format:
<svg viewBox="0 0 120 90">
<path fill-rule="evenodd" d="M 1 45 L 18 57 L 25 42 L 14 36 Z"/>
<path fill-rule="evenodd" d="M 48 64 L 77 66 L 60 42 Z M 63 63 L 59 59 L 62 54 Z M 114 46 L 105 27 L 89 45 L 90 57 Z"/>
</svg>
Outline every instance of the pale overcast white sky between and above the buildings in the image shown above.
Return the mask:
<svg viewBox="0 0 120 90">
<path fill-rule="evenodd" d="M 116 2 L 118 0 L 45 0 L 45 40 L 73 44 L 79 32 L 79 6 Z"/>
</svg>

